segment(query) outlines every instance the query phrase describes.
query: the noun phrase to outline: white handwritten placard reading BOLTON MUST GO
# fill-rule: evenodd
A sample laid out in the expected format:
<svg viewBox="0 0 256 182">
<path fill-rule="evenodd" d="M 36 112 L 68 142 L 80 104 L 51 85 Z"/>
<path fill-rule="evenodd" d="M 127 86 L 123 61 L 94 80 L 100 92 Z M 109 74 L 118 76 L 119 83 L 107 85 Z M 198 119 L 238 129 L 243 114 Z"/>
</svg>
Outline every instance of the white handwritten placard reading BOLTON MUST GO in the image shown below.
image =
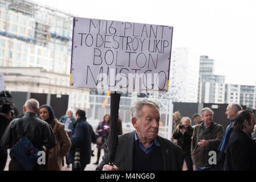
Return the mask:
<svg viewBox="0 0 256 182">
<path fill-rule="evenodd" d="M 74 18 L 70 85 L 120 92 L 168 90 L 173 27 Z"/>
</svg>

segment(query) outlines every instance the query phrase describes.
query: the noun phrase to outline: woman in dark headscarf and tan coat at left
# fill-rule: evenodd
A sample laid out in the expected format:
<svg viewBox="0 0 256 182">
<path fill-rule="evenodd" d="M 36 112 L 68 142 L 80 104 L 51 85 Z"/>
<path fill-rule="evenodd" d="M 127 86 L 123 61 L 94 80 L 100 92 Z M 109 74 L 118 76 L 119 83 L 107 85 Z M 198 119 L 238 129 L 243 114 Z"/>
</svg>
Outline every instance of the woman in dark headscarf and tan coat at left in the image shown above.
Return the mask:
<svg viewBox="0 0 256 182">
<path fill-rule="evenodd" d="M 54 132 L 56 145 L 51 150 L 46 148 L 46 167 L 47 171 L 61 171 L 62 159 L 70 150 L 71 142 L 65 131 L 65 125 L 59 123 L 55 117 L 54 110 L 50 105 L 42 105 L 39 110 L 40 119 L 46 121 Z"/>
</svg>

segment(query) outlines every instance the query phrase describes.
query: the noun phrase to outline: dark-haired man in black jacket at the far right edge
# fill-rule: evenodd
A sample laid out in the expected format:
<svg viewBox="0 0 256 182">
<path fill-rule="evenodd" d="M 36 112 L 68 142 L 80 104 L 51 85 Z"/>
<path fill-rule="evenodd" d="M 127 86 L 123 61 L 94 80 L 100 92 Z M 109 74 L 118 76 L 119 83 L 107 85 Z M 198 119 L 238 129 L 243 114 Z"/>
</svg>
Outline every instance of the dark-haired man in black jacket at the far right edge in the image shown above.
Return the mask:
<svg viewBox="0 0 256 182">
<path fill-rule="evenodd" d="M 248 134 L 253 132 L 255 117 L 252 111 L 238 111 L 233 132 L 227 143 L 226 166 L 228 171 L 255 171 L 256 144 Z"/>
</svg>

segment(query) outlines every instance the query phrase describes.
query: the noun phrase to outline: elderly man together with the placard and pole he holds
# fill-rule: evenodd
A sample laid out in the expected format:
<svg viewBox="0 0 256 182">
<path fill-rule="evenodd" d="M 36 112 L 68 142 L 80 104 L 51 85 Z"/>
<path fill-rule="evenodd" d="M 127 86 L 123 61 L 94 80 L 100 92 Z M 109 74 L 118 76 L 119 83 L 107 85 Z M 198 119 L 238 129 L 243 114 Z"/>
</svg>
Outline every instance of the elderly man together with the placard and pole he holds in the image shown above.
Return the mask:
<svg viewBox="0 0 256 182">
<path fill-rule="evenodd" d="M 157 102 L 135 102 L 132 124 L 136 131 L 117 137 L 117 92 L 168 92 L 173 27 L 78 17 L 73 26 L 70 85 L 114 91 L 108 152 L 97 169 L 108 164 L 104 169 L 180 170 L 181 149 L 158 136 Z"/>
</svg>

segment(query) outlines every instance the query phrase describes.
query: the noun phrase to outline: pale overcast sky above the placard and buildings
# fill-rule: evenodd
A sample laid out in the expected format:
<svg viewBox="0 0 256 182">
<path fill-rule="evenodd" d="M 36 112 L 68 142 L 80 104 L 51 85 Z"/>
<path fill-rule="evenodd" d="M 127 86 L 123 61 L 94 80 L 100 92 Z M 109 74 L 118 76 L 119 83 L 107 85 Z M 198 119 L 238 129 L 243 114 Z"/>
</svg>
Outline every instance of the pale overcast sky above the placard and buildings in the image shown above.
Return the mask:
<svg viewBox="0 0 256 182">
<path fill-rule="evenodd" d="M 255 85 L 255 0 L 33 2 L 83 18 L 173 26 L 173 47 L 188 47 L 216 60 L 216 75 L 226 76 L 226 83 Z"/>
</svg>

